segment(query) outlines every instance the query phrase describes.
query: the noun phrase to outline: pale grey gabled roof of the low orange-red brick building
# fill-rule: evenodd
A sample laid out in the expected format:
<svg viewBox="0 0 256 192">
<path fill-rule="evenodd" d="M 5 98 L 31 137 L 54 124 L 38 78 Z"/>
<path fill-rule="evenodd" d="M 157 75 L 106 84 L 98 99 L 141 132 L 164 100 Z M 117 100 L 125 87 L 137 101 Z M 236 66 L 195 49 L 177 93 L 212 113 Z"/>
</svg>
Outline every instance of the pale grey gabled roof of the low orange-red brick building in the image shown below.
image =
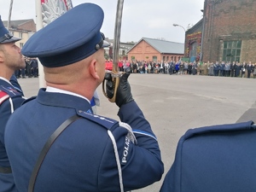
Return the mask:
<svg viewBox="0 0 256 192">
<path fill-rule="evenodd" d="M 141 38 L 137 42 L 137 44 L 141 43 L 142 41 L 147 42 L 154 49 L 158 50 L 161 54 L 181 54 L 181 55 L 184 54 L 184 44 L 181 44 L 181 43 L 154 39 L 154 38 Z M 136 47 L 137 44 L 135 44 L 131 49 Z M 128 52 L 130 52 L 131 49 Z"/>
</svg>

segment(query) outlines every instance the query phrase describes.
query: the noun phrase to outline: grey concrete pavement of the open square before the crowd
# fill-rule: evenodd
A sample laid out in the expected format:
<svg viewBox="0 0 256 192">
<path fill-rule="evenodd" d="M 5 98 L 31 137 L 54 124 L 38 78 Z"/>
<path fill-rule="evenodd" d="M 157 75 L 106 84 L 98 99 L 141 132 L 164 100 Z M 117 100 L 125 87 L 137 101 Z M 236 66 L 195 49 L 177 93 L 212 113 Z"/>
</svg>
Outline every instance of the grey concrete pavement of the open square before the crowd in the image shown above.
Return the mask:
<svg viewBox="0 0 256 192">
<path fill-rule="evenodd" d="M 160 190 L 174 160 L 178 139 L 189 128 L 235 123 L 255 106 L 256 79 L 137 73 L 131 74 L 129 81 L 134 99 L 158 137 L 165 164 L 160 182 L 137 192 Z M 19 82 L 27 97 L 38 93 L 38 79 Z M 98 93 L 98 113 L 118 119 L 118 107 L 102 95 L 101 85 Z"/>
</svg>

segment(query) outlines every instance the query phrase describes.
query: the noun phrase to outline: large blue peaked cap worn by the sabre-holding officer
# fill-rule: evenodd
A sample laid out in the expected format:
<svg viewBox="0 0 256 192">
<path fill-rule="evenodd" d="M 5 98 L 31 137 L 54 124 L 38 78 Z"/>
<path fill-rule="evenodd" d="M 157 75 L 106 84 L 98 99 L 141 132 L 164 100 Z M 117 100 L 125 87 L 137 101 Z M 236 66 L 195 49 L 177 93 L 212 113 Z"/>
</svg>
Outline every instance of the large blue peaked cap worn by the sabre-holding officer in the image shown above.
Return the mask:
<svg viewBox="0 0 256 192">
<path fill-rule="evenodd" d="M 104 13 L 93 3 L 83 3 L 49 23 L 28 39 L 22 55 L 38 57 L 44 67 L 63 67 L 108 47 L 100 32 Z"/>
</svg>

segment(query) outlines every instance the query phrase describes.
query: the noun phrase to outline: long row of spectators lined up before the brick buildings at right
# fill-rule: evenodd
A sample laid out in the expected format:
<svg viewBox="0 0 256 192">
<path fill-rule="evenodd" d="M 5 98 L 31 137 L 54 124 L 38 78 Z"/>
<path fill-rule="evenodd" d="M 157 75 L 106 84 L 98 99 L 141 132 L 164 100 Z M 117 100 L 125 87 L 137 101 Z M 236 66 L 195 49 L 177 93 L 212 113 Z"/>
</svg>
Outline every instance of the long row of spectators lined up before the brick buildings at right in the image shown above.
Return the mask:
<svg viewBox="0 0 256 192">
<path fill-rule="evenodd" d="M 106 61 L 106 69 L 112 61 Z M 256 78 L 256 63 L 252 61 L 242 63 L 233 62 L 187 62 L 187 61 L 119 61 L 119 71 L 125 72 L 127 68 L 131 73 L 160 73 L 160 74 L 189 74 L 222 77 Z"/>
</svg>

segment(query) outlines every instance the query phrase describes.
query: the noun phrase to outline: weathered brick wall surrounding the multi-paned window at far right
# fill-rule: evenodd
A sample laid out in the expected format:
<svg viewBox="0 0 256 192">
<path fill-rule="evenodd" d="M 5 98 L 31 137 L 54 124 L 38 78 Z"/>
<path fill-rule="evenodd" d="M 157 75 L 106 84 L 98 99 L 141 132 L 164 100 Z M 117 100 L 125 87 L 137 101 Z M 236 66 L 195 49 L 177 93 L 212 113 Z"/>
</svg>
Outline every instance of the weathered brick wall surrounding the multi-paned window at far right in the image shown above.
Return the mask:
<svg viewBox="0 0 256 192">
<path fill-rule="evenodd" d="M 241 60 L 256 62 L 256 0 L 205 0 L 203 61 L 221 61 L 223 42 L 241 40 Z"/>
</svg>

